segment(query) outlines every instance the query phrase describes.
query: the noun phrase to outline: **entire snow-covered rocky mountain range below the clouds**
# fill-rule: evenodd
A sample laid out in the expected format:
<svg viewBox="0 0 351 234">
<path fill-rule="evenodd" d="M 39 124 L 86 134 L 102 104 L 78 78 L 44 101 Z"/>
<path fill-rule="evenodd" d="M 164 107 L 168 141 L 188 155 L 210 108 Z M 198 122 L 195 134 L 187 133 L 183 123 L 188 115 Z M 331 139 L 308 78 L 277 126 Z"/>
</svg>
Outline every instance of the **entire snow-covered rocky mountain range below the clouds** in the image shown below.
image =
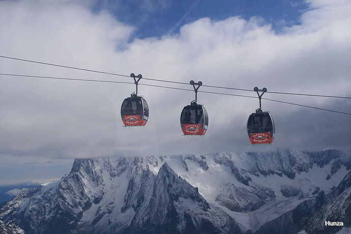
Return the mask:
<svg viewBox="0 0 351 234">
<path fill-rule="evenodd" d="M 351 151 L 337 150 L 76 159 L 60 181 L 4 204 L 0 219 L 26 233 L 274 233 L 313 206 L 310 222 L 279 230 L 320 233 L 323 218 L 348 217 L 349 169 Z"/>
</svg>

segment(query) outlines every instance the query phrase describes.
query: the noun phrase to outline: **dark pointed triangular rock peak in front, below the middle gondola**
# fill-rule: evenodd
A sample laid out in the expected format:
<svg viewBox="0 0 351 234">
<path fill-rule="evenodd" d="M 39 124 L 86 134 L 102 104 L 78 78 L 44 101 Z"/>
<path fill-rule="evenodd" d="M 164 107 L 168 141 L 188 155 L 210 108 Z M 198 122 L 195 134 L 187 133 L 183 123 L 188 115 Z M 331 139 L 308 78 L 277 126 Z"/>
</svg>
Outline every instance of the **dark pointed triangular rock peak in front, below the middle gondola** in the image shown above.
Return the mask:
<svg viewBox="0 0 351 234">
<path fill-rule="evenodd" d="M 125 233 L 241 233 L 235 221 L 223 211 L 212 211 L 209 204 L 163 164 L 147 206 L 139 209 Z M 218 225 L 214 217 L 225 220 Z"/>
</svg>

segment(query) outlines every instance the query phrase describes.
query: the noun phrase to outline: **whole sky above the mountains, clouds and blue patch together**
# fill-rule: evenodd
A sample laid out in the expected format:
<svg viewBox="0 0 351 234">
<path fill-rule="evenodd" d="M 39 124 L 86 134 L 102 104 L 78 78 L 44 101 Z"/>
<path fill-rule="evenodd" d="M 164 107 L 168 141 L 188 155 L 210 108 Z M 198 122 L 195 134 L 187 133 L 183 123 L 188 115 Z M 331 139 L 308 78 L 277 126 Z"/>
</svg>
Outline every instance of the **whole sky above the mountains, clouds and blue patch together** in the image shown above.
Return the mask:
<svg viewBox="0 0 351 234">
<path fill-rule="evenodd" d="M 347 0 L 122 2 L 0 1 L 0 55 L 180 82 L 351 96 Z M 0 73 L 131 81 L 5 58 Z M 60 178 L 81 157 L 351 148 L 350 115 L 266 100 L 262 109 L 276 123 L 274 144 L 251 147 L 246 122 L 258 100 L 204 93 L 198 102 L 209 113 L 208 132 L 184 137 L 180 112 L 194 94 L 142 85 L 149 121 L 123 128 L 121 104 L 134 89 L 0 76 L 0 183 Z M 264 97 L 351 112 L 350 99 Z"/>
</svg>

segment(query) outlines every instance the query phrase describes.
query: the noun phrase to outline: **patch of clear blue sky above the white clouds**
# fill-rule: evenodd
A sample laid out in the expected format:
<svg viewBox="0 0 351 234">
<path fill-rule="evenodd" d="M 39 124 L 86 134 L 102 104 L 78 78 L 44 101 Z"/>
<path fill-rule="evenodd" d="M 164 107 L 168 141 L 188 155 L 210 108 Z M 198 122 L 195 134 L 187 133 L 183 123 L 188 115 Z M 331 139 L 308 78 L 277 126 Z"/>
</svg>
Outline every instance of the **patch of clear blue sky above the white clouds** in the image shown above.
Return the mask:
<svg viewBox="0 0 351 234">
<path fill-rule="evenodd" d="M 182 25 L 204 17 L 213 20 L 259 17 L 280 33 L 283 27 L 300 24 L 301 14 L 308 6 L 302 0 L 102 0 L 94 2 L 91 9 L 108 11 L 120 22 L 135 26 L 134 36 L 142 39 L 178 33 Z"/>
</svg>

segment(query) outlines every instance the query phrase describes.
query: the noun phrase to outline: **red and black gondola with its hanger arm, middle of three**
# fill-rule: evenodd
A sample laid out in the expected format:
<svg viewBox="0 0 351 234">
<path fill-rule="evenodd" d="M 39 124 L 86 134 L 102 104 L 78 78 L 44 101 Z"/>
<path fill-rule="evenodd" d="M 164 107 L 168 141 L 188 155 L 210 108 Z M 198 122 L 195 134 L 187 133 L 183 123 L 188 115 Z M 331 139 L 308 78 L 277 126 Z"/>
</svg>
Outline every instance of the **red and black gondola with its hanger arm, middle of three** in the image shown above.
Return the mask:
<svg viewBox="0 0 351 234">
<path fill-rule="evenodd" d="M 181 113 L 181 127 L 184 135 L 204 135 L 209 126 L 209 116 L 203 105 L 197 104 L 197 90 L 202 85 L 199 81 L 190 81 L 195 91 L 195 100 L 183 108 Z M 195 88 L 195 84 L 198 85 Z"/>
</svg>

